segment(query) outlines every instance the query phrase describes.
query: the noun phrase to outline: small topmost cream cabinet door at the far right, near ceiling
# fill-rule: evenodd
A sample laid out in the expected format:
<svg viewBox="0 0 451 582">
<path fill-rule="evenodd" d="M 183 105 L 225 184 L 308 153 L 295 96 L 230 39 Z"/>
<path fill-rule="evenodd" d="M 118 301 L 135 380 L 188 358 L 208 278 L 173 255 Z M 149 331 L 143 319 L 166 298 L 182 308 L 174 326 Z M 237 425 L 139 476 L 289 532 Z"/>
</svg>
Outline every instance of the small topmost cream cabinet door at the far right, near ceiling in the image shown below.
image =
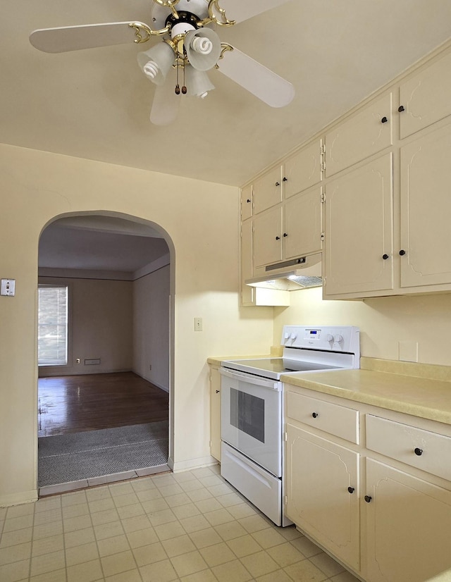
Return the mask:
<svg viewBox="0 0 451 582">
<path fill-rule="evenodd" d="M 421 70 L 400 87 L 401 139 L 451 114 L 451 54 Z"/>
</svg>

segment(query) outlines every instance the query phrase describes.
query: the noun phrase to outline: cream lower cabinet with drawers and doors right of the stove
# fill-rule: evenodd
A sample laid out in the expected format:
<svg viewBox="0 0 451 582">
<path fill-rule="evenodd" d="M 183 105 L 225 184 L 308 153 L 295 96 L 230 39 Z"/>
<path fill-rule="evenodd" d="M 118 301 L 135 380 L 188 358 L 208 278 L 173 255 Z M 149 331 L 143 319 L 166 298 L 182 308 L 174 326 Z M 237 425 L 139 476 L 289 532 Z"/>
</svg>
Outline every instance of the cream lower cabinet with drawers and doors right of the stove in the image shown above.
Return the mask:
<svg viewBox="0 0 451 582">
<path fill-rule="evenodd" d="M 320 394 L 315 429 L 289 404 L 319 393 L 284 390 L 288 518 L 366 582 L 451 580 L 451 427 Z M 333 430 L 340 407 L 358 409 L 357 442 Z"/>
</svg>

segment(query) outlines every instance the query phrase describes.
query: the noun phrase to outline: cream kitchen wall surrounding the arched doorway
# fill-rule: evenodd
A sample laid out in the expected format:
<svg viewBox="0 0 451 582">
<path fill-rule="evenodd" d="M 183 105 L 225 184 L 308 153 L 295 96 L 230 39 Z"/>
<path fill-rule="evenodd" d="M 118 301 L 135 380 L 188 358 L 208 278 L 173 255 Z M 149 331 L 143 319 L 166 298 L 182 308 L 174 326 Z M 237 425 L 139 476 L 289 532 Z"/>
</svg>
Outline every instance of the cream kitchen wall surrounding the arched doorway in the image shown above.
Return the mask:
<svg viewBox="0 0 451 582">
<path fill-rule="evenodd" d="M 16 297 L 0 297 L 0 505 L 36 496 L 37 250 L 43 228 L 66 214 L 137 217 L 165 233 L 171 462 L 209 462 L 206 358 L 266 352 L 273 338 L 272 308 L 238 306 L 238 189 L 5 144 L 0 177 L 0 276 L 16 279 Z"/>
</svg>

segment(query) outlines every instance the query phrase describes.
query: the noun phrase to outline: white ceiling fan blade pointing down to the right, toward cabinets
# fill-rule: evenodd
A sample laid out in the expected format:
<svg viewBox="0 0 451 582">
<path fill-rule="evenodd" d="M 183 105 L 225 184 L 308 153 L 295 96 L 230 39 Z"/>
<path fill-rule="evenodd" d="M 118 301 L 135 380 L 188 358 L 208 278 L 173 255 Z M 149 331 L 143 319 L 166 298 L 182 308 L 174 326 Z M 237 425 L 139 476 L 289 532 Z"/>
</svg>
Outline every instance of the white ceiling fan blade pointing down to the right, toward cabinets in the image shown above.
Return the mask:
<svg viewBox="0 0 451 582">
<path fill-rule="evenodd" d="M 271 107 L 285 107 L 295 97 L 295 87 L 233 47 L 218 61 L 219 71 Z"/>
</svg>

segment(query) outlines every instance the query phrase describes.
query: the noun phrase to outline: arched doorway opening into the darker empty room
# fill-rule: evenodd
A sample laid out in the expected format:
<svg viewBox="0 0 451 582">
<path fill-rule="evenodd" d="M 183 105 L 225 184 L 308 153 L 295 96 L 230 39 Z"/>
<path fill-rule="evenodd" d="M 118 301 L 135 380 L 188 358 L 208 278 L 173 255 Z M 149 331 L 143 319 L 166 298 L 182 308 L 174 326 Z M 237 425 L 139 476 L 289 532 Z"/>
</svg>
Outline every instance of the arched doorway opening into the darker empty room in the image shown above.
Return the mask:
<svg viewBox="0 0 451 582">
<path fill-rule="evenodd" d="M 38 341 L 39 357 L 42 356 L 39 388 L 46 383 L 47 388 L 53 388 L 53 392 L 46 392 L 45 386 L 39 390 L 38 483 L 41 495 L 56 493 L 61 489 L 58 485 L 68 481 L 75 489 L 130 478 L 132 471 L 141 476 L 168 469 L 168 455 L 171 454 L 167 442 L 172 378 L 170 330 L 173 327 L 171 263 L 173 245 L 167 233 L 158 225 L 133 216 L 106 211 L 66 214 L 54 218 L 42 231 L 39 289 L 46 296 L 46 290 L 66 286 L 68 335 L 66 359 L 57 366 L 52 365 L 51 359 L 46 361 L 46 345 L 39 352 L 40 343 L 45 342 Z M 44 316 L 44 323 L 45 319 Z M 44 420 L 51 418 L 46 406 L 54 391 L 58 391 L 56 378 L 60 379 L 59 387 L 70 392 L 71 405 L 66 401 L 64 409 L 61 398 L 61 410 L 59 413 L 56 410 L 54 419 L 46 424 Z M 99 388 L 100 378 L 106 380 L 104 385 L 109 387 L 106 395 L 105 388 Z M 87 382 L 85 388 L 82 379 Z M 111 388 L 113 384 L 118 388 L 121 382 L 123 388 L 119 390 L 122 392 L 119 397 Z M 95 386 L 98 395 L 106 396 L 106 400 L 102 404 L 98 396 L 97 404 L 92 404 L 90 409 L 86 395 L 92 395 Z M 166 396 L 166 413 L 163 412 L 166 424 L 160 418 L 161 411 L 151 414 L 149 408 L 149 403 L 151 406 L 152 402 L 161 404 L 163 394 Z M 138 399 L 134 403 L 137 404 L 135 413 L 127 416 L 125 412 L 130 413 L 128 408 L 135 397 Z M 114 408 L 111 400 L 116 400 L 119 407 L 113 414 L 115 419 L 104 415 L 99 423 L 103 410 L 108 415 L 111 413 L 109 404 Z M 96 407 L 97 416 L 94 414 Z M 102 408 L 100 413 L 99 407 Z M 146 414 L 146 407 L 149 414 Z M 81 416 L 85 411 L 91 418 L 81 424 L 79 418 L 77 427 L 74 419 L 69 418 L 71 414 L 74 416 L 75 410 L 78 416 L 80 411 Z M 61 418 L 56 427 L 58 414 L 65 418 Z M 165 426 L 166 444 L 161 436 Z M 167 451 L 164 462 L 161 462 L 161 447 L 166 447 Z M 149 454 L 151 449 L 153 452 Z M 59 459 L 55 450 L 58 450 Z M 42 451 L 49 452 L 47 457 Z M 99 468 L 94 466 L 97 458 L 101 459 Z M 75 465 L 73 471 L 66 466 L 69 462 Z M 94 477 L 96 471 L 99 475 Z M 62 488 L 68 490 L 70 485 Z"/>
</svg>

